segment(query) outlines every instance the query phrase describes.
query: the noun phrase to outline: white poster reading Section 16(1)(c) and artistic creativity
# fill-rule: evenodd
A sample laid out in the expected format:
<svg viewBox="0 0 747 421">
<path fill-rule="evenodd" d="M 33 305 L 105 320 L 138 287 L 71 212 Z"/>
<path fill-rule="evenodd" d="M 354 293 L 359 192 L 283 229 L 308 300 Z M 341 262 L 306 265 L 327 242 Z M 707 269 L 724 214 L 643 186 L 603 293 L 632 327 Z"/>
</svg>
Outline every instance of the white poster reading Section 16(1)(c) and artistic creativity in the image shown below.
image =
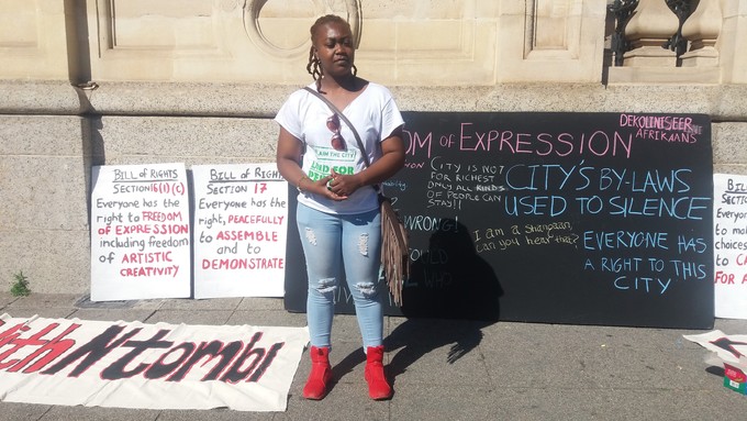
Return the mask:
<svg viewBox="0 0 747 421">
<path fill-rule="evenodd" d="M 185 165 L 105 165 L 91 175 L 91 300 L 188 298 Z"/>
</svg>

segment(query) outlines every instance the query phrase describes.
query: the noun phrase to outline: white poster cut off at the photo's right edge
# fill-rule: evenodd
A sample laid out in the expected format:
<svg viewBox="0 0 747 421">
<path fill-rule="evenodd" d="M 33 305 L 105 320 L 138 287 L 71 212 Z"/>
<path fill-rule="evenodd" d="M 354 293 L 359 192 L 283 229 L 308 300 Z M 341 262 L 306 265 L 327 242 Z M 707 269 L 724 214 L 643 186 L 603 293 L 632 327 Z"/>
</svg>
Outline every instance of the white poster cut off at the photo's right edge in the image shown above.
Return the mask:
<svg viewBox="0 0 747 421">
<path fill-rule="evenodd" d="M 747 176 L 713 175 L 715 315 L 747 319 Z"/>
</svg>

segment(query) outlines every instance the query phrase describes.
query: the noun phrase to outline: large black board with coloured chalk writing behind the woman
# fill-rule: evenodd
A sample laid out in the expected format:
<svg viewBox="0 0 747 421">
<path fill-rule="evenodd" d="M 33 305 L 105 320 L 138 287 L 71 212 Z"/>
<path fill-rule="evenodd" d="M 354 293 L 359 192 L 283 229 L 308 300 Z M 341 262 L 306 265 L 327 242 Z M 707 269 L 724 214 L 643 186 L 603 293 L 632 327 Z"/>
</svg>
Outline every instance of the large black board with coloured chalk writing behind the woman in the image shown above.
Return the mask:
<svg viewBox="0 0 747 421">
<path fill-rule="evenodd" d="M 384 186 L 412 275 L 387 314 L 713 326 L 707 115 L 403 114 L 408 163 Z M 305 311 L 289 209 L 286 308 Z M 335 311 L 352 313 L 344 285 Z"/>
</svg>

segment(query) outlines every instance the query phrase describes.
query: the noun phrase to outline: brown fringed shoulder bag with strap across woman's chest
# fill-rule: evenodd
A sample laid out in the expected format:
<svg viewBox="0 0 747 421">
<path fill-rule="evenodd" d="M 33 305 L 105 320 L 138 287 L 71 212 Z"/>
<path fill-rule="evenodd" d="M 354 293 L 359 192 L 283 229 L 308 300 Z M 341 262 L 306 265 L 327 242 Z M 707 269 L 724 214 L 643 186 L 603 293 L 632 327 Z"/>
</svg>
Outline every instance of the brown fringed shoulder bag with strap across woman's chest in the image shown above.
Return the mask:
<svg viewBox="0 0 747 421">
<path fill-rule="evenodd" d="M 355 140 L 358 142 L 358 148 L 360 148 L 366 166 L 370 166 L 371 163 L 368 160 L 368 155 L 366 155 L 366 148 L 364 143 L 360 141 L 360 135 L 358 131 L 355 130 L 353 123 L 343 114 L 337 107 L 335 107 L 330 100 L 324 98 L 317 91 L 305 87 L 303 88 L 314 95 L 316 98 L 324 101 L 324 103 L 330 107 L 330 110 L 337 114 L 339 120 L 344 121 Z M 381 193 L 379 186 L 375 186 L 379 195 L 379 206 L 381 208 L 381 266 L 383 266 L 384 278 L 387 279 L 387 285 L 389 285 L 389 291 L 394 298 L 394 303 L 397 306 L 402 306 L 402 286 L 405 279 L 410 277 L 410 244 L 408 240 L 408 230 L 402 223 L 402 219 L 399 213 L 392 207 L 391 199 Z"/>
</svg>

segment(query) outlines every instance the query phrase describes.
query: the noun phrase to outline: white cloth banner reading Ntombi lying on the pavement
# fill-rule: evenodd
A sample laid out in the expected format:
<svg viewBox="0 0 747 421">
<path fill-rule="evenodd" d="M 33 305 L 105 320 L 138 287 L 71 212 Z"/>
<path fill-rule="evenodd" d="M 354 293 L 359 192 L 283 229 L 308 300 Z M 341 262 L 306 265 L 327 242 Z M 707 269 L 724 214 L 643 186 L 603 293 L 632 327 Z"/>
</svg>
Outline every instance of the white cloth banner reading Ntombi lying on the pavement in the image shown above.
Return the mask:
<svg viewBox="0 0 747 421">
<path fill-rule="evenodd" d="M 283 411 L 306 328 L 0 317 L 0 398 Z"/>
</svg>

